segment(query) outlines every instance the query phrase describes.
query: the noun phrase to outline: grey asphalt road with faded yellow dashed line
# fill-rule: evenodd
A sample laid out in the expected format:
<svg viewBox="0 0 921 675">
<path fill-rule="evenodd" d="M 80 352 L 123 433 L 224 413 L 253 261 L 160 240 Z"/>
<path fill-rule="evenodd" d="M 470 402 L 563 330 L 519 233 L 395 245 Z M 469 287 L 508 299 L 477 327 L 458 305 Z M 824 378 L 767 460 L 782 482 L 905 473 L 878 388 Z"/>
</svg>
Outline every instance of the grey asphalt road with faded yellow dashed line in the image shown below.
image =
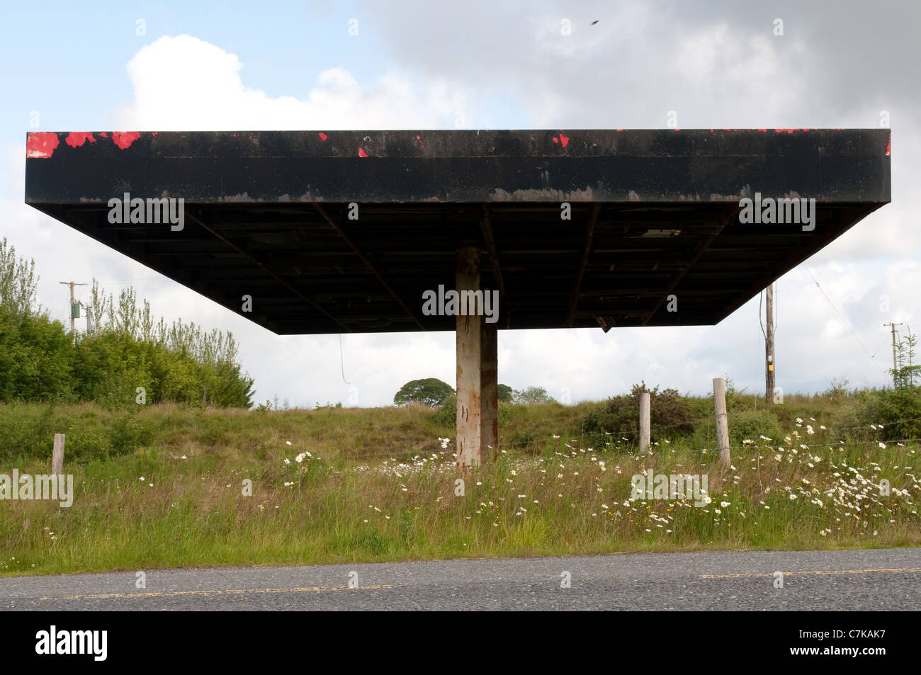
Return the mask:
<svg viewBox="0 0 921 675">
<path fill-rule="evenodd" d="M 921 549 L 150 570 L 146 588 L 136 582 L 136 572 L 0 578 L 0 611 L 916 611 Z"/>
</svg>

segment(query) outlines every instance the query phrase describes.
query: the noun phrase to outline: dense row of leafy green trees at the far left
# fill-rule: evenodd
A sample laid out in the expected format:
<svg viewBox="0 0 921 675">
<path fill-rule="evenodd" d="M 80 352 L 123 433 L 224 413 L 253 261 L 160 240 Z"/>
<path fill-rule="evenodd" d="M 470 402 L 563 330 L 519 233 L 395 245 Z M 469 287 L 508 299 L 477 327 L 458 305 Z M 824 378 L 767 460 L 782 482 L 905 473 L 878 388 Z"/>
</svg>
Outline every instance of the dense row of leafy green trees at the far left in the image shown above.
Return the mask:
<svg viewBox="0 0 921 675">
<path fill-rule="evenodd" d="M 35 262 L 0 240 L 0 402 L 177 402 L 249 408 L 252 378 L 241 373 L 227 332 L 155 322 L 134 288 L 117 305 L 94 279 L 90 330 L 73 343 L 36 295 Z"/>
</svg>

